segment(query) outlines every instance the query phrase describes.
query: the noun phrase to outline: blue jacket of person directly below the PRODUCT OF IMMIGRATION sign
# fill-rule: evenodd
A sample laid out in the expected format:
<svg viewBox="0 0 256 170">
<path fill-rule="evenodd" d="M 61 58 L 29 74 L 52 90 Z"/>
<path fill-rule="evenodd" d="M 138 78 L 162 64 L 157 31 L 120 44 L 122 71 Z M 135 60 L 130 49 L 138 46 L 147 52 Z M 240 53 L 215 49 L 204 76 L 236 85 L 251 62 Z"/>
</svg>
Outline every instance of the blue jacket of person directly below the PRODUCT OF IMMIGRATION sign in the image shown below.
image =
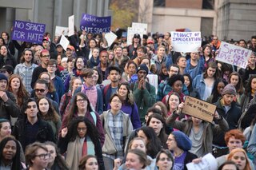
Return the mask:
<svg viewBox="0 0 256 170">
<path fill-rule="evenodd" d="M 198 65 L 194 67 L 194 69 L 190 69 L 190 65 L 191 65 L 190 60 L 191 59 L 188 59 L 186 61 L 185 73 L 189 73 L 192 79 L 194 79 L 194 77 L 196 77 L 197 75 L 202 74 L 202 70 L 204 69 L 205 59 L 203 56 L 200 56 Z"/>
</svg>

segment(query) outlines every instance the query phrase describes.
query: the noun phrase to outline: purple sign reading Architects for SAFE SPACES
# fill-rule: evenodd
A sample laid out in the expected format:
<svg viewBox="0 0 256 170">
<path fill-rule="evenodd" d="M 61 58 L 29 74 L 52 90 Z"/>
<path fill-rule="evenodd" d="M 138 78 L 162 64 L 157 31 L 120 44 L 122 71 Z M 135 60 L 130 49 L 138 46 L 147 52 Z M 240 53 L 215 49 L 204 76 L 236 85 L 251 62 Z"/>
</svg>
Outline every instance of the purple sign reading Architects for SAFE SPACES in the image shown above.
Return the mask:
<svg viewBox="0 0 256 170">
<path fill-rule="evenodd" d="M 80 29 L 87 33 L 101 34 L 109 33 L 111 17 L 97 17 L 90 14 L 82 14 Z"/>
</svg>

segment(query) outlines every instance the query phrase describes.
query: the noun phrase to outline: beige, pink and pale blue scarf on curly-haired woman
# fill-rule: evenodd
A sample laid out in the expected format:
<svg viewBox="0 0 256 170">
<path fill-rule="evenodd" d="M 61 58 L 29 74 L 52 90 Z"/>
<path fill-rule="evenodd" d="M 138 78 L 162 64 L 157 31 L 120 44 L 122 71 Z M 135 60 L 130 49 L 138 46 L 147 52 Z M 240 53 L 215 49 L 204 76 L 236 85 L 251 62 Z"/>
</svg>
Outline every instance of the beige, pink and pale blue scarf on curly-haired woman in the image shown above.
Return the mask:
<svg viewBox="0 0 256 170">
<path fill-rule="evenodd" d="M 95 155 L 94 153 L 94 144 L 90 140 L 89 136 L 86 136 L 86 138 L 80 138 L 77 136 L 74 141 L 70 141 L 67 145 L 66 149 L 66 163 L 69 165 L 70 169 L 72 170 L 78 170 L 78 164 L 79 160 L 82 158 L 82 152 L 84 143 L 86 140 L 86 152 L 87 154 Z"/>
</svg>

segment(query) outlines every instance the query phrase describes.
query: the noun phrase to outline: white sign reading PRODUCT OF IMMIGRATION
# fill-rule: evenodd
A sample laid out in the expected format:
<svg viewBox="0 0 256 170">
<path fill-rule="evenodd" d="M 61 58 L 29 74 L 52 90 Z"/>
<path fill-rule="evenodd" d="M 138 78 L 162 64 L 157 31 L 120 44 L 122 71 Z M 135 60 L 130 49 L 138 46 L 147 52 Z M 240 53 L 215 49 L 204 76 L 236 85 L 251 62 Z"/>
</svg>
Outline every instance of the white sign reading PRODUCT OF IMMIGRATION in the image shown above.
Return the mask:
<svg viewBox="0 0 256 170">
<path fill-rule="evenodd" d="M 201 47 L 201 32 L 171 32 L 171 45 L 173 51 L 197 52 Z"/>
</svg>

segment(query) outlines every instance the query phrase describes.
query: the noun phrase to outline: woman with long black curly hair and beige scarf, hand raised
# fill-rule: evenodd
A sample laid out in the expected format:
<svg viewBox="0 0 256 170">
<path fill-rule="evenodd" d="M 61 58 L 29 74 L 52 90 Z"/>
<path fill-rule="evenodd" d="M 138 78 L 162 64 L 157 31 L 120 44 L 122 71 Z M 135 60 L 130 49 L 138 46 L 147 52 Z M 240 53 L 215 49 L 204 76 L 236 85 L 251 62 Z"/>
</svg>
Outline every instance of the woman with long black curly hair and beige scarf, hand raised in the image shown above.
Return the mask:
<svg viewBox="0 0 256 170">
<path fill-rule="evenodd" d="M 97 156 L 100 169 L 104 169 L 102 147 L 96 127 L 86 118 L 77 117 L 63 128 L 58 142 L 61 153 L 66 153 L 66 163 L 72 170 L 78 169 L 82 156 Z"/>
</svg>

